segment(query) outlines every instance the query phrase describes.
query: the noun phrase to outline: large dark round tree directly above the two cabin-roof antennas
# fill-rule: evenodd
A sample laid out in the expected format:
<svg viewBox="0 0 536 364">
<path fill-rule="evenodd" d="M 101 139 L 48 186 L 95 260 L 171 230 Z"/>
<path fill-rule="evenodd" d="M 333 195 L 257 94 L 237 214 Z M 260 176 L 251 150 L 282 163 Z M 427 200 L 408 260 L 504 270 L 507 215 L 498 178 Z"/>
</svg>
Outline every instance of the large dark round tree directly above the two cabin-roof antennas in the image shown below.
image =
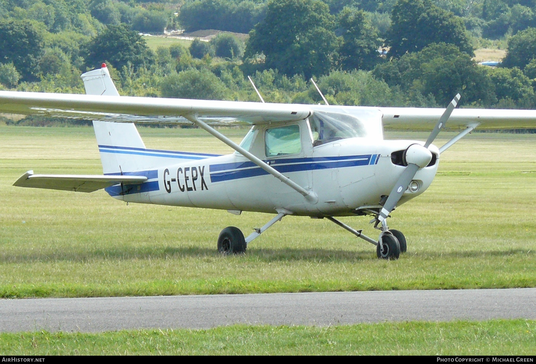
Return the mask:
<svg viewBox="0 0 536 364">
<path fill-rule="evenodd" d="M 272 0 L 266 18 L 250 32 L 245 57 L 264 54 L 265 68 L 285 75 L 324 75 L 336 58 L 334 25 L 334 17 L 321 1 Z"/>
</svg>

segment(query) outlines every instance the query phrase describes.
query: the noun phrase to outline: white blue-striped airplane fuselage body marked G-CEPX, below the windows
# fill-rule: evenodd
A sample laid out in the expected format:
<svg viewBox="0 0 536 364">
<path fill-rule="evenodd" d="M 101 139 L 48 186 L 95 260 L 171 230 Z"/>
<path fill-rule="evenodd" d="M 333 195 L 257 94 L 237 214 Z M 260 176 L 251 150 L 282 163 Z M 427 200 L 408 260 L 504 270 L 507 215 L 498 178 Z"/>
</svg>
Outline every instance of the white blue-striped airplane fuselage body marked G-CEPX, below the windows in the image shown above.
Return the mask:
<svg viewBox="0 0 536 364">
<path fill-rule="evenodd" d="M 115 186 L 110 195 L 125 202 L 274 213 L 283 208 L 300 216 L 354 216 L 364 206 L 378 206 L 405 169 L 391 155 L 412 140 L 346 138 L 310 148 L 302 155 L 264 159 L 273 168 L 318 196 L 311 203 L 295 190 L 238 153 L 181 162 L 143 171 L 148 181 Z M 434 147 L 435 148 L 435 147 Z M 435 148 L 437 150 L 437 148 Z M 439 153 L 436 151 L 437 156 Z M 438 160 L 414 177 L 415 192 L 424 192 L 437 172 Z"/>
</svg>

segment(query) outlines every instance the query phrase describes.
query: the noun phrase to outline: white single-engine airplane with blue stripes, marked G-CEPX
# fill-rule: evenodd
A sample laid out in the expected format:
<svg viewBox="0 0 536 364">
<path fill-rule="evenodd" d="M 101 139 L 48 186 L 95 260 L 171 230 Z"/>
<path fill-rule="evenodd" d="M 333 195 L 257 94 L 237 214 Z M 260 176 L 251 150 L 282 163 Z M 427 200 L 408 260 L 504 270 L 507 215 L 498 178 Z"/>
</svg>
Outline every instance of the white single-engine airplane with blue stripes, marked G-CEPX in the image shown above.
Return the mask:
<svg viewBox="0 0 536 364">
<path fill-rule="evenodd" d="M 14 185 L 92 192 L 104 188 L 125 202 L 277 213 L 245 237 L 226 227 L 224 254 L 247 244 L 286 215 L 327 218 L 396 259 L 404 235 L 386 219 L 434 180 L 440 154 L 480 127 L 534 128 L 532 110 L 445 109 L 155 99 L 120 96 L 106 65 L 82 75 L 86 95 L 0 91 L 0 112 L 94 120 L 103 175 L 39 175 Z M 316 85 L 315 85 L 316 86 Z M 259 94 L 260 96 L 260 94 Z M 261 98 L 262 100 L 262 98 Z M 327 102 L 326 102 L 327 103 Z M 147 149 L 133 124 L 193 124 L 235 152 L 228 155 Z M 251 125 L 240 145 L 212 125 Z M 461 130 L 441 148 L 431 144 L 445 128 Z M 430 130 L 425 143 L 384 140 L 383 130 Z M 378 241 L 335 217 L 371 215 Z"/>
</svg>

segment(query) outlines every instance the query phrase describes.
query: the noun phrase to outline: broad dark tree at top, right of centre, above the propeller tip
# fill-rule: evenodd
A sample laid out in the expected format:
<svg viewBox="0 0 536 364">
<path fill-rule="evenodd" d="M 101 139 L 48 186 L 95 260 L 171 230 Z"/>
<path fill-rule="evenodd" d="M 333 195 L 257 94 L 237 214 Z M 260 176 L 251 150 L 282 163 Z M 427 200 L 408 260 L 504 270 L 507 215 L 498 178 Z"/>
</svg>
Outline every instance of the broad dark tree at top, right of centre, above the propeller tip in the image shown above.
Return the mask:
<svg viewBox="0 0 536 364">
<path fill-rule="evenodd" d="M 391 47 L 389 55 L 393 57 L 440 42 L 455 44 L 461 51 L 473 55 L 461 18 L 439 8 L 431 0 L 398 0 L 391 20 L 385 42 Z"/>
</svg>

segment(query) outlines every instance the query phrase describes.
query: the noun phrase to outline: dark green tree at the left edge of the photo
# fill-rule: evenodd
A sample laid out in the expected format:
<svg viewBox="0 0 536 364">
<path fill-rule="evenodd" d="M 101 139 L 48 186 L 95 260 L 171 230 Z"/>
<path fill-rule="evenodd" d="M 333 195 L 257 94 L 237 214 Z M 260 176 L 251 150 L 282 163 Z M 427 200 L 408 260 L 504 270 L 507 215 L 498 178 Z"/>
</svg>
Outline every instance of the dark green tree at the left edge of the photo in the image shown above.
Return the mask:
<svg viewBox="0 0 536 364">
<path fill-rule="evenodd" d="M 43 33 L 29 20 L 0 20 L 0 63 L 13 63 L 23 80 L 34 77 Z"/>
</svg>

